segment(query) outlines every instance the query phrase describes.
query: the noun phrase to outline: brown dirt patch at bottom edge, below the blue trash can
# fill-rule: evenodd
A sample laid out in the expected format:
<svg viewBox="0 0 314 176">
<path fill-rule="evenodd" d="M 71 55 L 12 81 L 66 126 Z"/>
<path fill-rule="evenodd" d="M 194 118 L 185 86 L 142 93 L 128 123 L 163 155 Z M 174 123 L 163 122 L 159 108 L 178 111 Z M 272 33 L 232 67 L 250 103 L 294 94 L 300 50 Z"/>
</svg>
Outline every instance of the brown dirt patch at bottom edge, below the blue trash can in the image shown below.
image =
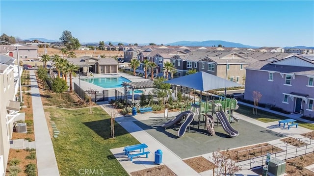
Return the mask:
<svg viewBox="0 0 314 176">
<path fill-rule="evenodd" d="M 131 176 L 177 176 L 166 165 L 132 172 Z"/>
</svg>

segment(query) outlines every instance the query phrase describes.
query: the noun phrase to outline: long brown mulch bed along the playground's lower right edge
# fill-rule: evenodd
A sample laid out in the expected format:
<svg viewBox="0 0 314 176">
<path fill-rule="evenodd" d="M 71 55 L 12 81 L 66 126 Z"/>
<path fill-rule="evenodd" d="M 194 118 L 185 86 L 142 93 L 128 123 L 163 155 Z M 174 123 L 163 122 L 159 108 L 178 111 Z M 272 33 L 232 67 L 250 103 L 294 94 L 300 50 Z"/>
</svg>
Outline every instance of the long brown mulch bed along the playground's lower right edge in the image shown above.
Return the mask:
<svg viewBox="0 0 314 176">
<path fill-rule="evenodd" d="M 254 146 L 243 147 L 229 151 L 230 158 L 235 162 L 247 160 L 257 156 L 266 155 L 267 152 L 274 153 L 277 151 L 283 151 L 282 149 L 270 145 L 268 143 L 258 144 Z M 226 151 L 220 151 L 222 154 L 226 154 Z"/>
</svg>

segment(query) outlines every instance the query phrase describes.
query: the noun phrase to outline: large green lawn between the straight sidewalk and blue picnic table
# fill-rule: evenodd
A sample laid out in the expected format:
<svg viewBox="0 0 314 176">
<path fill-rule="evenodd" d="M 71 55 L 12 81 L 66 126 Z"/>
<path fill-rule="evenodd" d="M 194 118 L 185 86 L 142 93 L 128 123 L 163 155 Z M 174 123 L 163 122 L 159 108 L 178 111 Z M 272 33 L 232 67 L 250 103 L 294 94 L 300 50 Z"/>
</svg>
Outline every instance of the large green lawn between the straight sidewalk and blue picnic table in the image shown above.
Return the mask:
<svg viewBox="0 0 314 176">
<path fill-rule="evenodd" d="M 61 176 L 78 176 L 80 169 L 102 171 L 104 176 L 128 176 L 109 149 L 139 142 L 117 123 L 115 139 L 110 138 L 110 117 L 102 108 L 93 108 L 93 114 L 89 108 L 45 111 L 60 131 L 52 143 Z"/>
</svg>

